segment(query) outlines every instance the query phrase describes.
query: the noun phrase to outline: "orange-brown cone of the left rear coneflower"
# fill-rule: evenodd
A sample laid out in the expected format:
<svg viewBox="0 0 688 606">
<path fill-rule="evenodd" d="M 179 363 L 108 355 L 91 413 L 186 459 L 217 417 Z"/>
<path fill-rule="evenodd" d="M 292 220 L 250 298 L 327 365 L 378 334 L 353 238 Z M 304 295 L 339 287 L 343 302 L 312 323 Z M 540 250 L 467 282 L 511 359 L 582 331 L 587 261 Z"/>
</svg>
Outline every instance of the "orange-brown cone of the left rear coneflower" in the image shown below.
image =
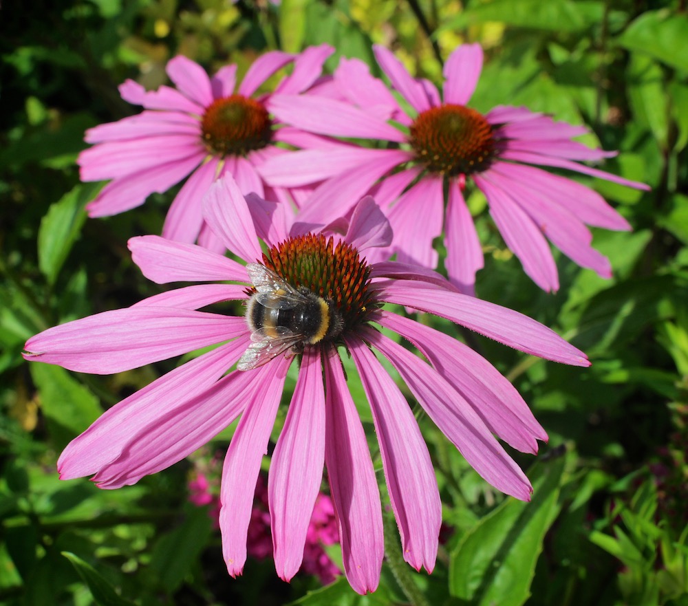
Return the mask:
<svg viewBox="0 0 688 606">
<path fill-rule="evenodd" d="M 232 95 L 208 105 L 201 120 L 203 142 L 215 155 L 246 155 L 270 142 L 268 110 L 258 101 Z"/>
</svg>

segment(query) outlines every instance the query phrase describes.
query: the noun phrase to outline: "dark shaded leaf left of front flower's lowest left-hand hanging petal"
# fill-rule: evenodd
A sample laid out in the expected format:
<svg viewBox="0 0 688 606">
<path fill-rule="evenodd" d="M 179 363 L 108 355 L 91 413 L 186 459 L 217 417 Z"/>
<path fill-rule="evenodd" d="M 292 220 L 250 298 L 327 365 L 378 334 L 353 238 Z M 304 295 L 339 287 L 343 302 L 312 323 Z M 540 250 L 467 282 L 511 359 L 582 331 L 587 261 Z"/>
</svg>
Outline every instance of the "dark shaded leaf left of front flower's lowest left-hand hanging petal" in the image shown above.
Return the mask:
<svg viewBox="0 0 688 606">
<path fill-rule="evenodd" d="M 180 526 L 155 543 L 151 569 L 158 573 L 160 585 L 173 594 L 206 547 L 213 530 L 205 508 L 190 507 Z"/>
</svg>

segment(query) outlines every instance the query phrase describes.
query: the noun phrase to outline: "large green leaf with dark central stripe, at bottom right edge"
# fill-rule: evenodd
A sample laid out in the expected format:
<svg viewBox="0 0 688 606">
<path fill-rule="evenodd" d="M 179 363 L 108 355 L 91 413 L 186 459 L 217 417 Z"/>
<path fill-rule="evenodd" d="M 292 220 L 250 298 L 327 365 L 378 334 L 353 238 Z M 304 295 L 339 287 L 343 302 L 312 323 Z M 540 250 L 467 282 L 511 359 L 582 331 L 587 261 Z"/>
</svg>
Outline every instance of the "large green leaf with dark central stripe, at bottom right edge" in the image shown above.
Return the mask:
<svg viewBox="0 0 688 606">
<path fill-rule="evenodd" d="M 530 503 L 506 499 L 464 535 L 449 565 L 453 596 L 485 606 L 528 599 L 542 541 L 560 509 L 563 466 L 563 458 L 538 465 Z"/>
</svg>

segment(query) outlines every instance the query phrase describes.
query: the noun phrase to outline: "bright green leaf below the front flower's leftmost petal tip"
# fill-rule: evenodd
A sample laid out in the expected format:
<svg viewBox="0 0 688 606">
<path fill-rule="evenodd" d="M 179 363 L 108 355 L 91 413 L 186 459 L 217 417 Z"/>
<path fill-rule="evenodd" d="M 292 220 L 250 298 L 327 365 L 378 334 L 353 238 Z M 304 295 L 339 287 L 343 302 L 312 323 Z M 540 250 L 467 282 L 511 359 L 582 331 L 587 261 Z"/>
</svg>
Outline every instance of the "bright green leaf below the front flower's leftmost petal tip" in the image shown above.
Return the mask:
<svg viewBox="0 0 688 606">
<path fill-rule="evenodd" d="M 103 413 L 98 398 L 65 369 L 35 363 L 30 370 L 40 392 L 41 409 L 58 446 L 66 445 Z"/>
</svg>

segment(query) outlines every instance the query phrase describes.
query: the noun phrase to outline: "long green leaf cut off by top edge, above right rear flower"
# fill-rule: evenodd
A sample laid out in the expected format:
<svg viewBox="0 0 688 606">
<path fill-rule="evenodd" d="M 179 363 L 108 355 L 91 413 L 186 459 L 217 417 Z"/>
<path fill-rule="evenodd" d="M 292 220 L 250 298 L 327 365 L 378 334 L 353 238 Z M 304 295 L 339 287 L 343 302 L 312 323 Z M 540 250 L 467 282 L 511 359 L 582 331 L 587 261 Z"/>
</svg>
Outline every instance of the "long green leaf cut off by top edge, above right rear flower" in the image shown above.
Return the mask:
<svg viewBox="0 0 688 606">
<path fill-rule="evenodd" d="M 475 5 L 475 6 L 474 6 Z M 518 28 L 556 32 L 579 32 L 586 26 L 585 14 L 568 0 L 495 0 L 471 3 L 471 8 L 450 19 L 438 30 L 464 30 L 475 23 L 499 21 Z"/>
</svg>

